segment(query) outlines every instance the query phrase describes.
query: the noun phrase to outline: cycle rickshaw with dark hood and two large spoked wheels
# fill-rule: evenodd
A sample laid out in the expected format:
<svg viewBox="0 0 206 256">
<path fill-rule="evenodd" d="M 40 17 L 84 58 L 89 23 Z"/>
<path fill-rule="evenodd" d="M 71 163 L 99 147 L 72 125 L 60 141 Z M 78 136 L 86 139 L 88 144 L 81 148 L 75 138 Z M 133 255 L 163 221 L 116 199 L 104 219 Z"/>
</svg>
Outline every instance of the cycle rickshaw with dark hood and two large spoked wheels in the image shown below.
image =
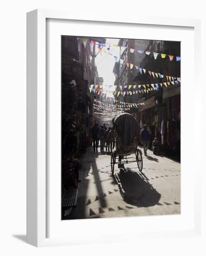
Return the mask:
<svg viewBox="0 0 206 256">
<path fill-rule="evenodd" d="M 122 113 L 113 118 L 113 147 L 111 153 L 111 169 L 114 174 L 114 165 L 124 168 L 124 164 L 137 162 L 137 167 L 142 172 L 142 152 L 138 148 L 137 135 L 140 125 L 135 117 L 129 113 Z"/>
</svg>

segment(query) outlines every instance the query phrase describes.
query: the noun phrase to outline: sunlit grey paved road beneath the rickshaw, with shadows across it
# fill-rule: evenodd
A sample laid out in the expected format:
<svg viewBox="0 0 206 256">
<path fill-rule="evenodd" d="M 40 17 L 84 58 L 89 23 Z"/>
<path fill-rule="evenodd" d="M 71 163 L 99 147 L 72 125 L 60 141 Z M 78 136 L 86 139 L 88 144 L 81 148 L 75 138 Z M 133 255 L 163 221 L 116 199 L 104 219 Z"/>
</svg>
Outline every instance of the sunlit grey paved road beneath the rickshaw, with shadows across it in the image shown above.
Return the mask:
<svg viewBox="0 0 206 256">
<path fill-rule="evenodd" d="M 82 159 L 77 206 L 64 219 L 180 214 L 180 163 L 167 157 L 143 155 L 143 171 L 137 163 L 115 164 L 111 156 L 88 148 Z"/>
</svg>

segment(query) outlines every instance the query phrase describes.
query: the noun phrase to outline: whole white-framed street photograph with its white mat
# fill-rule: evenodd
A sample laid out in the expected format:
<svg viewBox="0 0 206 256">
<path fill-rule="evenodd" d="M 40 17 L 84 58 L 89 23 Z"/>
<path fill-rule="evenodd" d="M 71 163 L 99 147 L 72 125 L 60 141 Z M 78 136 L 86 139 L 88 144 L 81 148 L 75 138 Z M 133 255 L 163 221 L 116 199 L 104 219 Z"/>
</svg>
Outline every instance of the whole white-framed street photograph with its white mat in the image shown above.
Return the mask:
<svg viewBox="0 0 206 256">
<path fill-rule="evenodd" d="M 200 236 L 199 56 L 199 20 L 27 13 L 27 243 Z"/>
</svg>

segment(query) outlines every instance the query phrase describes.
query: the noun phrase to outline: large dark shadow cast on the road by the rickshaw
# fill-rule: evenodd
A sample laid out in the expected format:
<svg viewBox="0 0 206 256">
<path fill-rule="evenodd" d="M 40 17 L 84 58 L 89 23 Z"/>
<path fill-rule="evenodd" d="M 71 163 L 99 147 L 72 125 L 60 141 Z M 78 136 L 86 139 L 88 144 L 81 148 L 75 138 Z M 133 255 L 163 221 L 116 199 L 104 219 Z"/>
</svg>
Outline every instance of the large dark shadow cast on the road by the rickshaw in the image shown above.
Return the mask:
<svg viewBox="0 0 206 256">
<path fill-rule="evenodd" d="M 115 175 L 124 201 L 137 207 L 149 207 L 158 204 L 161 194 L 148 182 L 145 174 L 121 169 Z"/>
</svg>

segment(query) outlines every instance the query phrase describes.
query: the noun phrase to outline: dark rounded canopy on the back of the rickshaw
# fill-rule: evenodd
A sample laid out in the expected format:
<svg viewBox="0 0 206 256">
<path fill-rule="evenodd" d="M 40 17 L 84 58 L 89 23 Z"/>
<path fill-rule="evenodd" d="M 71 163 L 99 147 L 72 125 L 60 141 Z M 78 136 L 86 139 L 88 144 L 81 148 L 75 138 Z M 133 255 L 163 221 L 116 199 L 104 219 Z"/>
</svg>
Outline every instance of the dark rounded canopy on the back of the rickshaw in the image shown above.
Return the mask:
<svg viewBox="0 0 206 256">
<path fill-rule="evenodd" d="M 113 118 L 113 126 L 121 136 L 124 146 L 130 146 L 133 138 L 139 133 L 140 125 L 135 117 L 129 113 L 122 113 Z"/>
</svg>

